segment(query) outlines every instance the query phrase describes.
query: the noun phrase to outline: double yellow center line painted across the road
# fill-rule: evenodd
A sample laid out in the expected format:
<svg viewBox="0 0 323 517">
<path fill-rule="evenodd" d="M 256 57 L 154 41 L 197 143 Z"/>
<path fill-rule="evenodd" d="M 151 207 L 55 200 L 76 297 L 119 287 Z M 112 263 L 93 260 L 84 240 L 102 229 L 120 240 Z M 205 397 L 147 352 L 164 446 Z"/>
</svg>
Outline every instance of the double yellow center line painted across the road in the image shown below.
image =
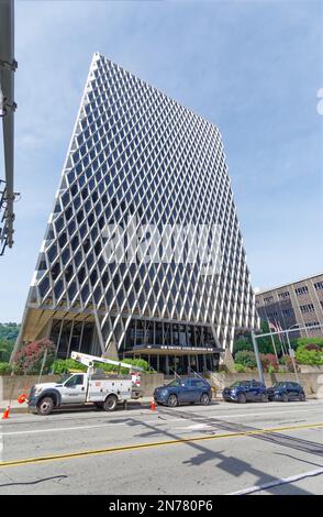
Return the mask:
<svg viewBox="0 0 323 517">
<path fill-rule="evenodd" d="M 44 463 L 44 462 L 49 462 L 49 461 L 71 460 L 74 458 L 85 458 L 85 457 L 99 455 L 99 454 L 109 454 L 111 452 L 135 451 L 138 449 L 149 449 L 154 447 L 175 446 L 175 444 L 180 444 L 180 443 L 192 443 L 192 442 L 205 441 L 205 440 L 219 440 L 222 438 L 252 437 L 256 435 L 266 435 L 269 432 L 291 431 L 291 430 L 297 430 L 297 429 L 311 429 L 315 427 L 323 427 L 323 422 L 304 424 L 301 426 L 289 426 L 289 427 L 271 427 L 268 429 L 256 429 L 252 431 L 237 431 L 237 432 L 227 432 L 225 435 L 179 438 L 178 440 L 165 440 L 165 441 L 156 441 L 156 442 L 147 442 L 147 443 L 137 443 L 133 446 L 119 446 L 119 447 L 111 447 L 107 449 L 70 452 L 66 454 L 53 454 L 53 455 L 38 457 L 38 458 L 26 458 L 24 460 L 11 460 L 11 461 L 0 462 L 0 469 L 5 469 L 10 466 L 30 465 L 30 464 L 35 464 L 35 463 Z"/>
</svg>

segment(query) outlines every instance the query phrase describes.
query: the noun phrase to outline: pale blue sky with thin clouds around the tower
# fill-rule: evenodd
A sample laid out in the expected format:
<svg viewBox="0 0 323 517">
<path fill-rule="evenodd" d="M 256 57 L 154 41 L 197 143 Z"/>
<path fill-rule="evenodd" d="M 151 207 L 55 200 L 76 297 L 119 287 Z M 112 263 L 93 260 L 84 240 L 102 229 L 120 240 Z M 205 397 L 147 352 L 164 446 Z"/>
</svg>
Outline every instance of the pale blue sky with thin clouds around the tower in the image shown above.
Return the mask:
<svg viewBox="0 0 323 517">
<path fill-rule="evenodd" d="M 21 320 L 93 52 L 220 127 L 254 287 L 323 270 L 323 2 L 18 0 L 15 19 L 0 321 Z"/>
</svg>

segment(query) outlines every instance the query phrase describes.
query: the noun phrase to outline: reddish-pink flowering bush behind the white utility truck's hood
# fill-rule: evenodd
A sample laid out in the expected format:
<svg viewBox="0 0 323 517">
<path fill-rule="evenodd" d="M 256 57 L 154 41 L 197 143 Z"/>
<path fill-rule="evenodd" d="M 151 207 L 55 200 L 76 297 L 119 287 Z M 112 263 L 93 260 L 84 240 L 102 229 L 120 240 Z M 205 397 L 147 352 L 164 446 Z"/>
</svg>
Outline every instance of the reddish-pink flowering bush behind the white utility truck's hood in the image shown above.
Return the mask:
<svg viewBox="0 0 323 517">
<path fill-rule="evenodd" d="M 45 351 L 47 351 L 47 355 L 44 373 L 47 372 L 55 358 L 55 350 L 54 343 L 48 339 L 41 339 L 26 344 L 14 356 L 14 372 L 26 375 L 40 373 Z"/>
</svg>

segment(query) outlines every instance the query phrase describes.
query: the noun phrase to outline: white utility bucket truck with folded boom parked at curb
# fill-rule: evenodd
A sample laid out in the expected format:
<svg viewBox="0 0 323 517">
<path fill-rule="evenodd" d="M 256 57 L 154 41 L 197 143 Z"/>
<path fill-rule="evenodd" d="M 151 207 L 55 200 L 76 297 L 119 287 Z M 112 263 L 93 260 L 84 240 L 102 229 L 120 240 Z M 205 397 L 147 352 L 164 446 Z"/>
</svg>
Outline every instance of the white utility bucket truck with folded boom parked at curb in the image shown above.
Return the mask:
<svg viewBox="0 0 323 517">
<path fill-rule="evenodd" d="M 29 407 L 38 415 L 49 415 L 54 408 L 92 404 L 105 411 L 114 411 L 118 404 L 124 407 L 130 398 L 141 396 L 141 374 L 143 369 L 105 358 L 96 358 L 71 352 L 71 359 L 87 366 L 87 372 L 73 373 L 58 383 L 35 384 L 30 393 Z M 127 369 L 129 375 L 107 374 L 97 370 L 96 363 L 111 364 L 115 371 Z"/>
</svg>

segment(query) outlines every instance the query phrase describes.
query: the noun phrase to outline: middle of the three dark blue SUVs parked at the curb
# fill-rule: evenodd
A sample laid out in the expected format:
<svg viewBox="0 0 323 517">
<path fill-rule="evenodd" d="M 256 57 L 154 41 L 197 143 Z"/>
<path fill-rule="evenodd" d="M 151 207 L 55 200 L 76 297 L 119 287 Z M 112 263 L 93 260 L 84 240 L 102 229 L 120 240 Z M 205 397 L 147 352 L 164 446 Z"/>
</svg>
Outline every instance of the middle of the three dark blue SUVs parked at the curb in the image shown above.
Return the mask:
<svg viewBox="0 0 323 517">
<path fill-rule="evenodd" d="M 257 381 L 237 381 L 222 392 L 222 397 L 226 402 L 245 404 L 246 402 L 268 402 L 265 384 Z"/>
</svg>

